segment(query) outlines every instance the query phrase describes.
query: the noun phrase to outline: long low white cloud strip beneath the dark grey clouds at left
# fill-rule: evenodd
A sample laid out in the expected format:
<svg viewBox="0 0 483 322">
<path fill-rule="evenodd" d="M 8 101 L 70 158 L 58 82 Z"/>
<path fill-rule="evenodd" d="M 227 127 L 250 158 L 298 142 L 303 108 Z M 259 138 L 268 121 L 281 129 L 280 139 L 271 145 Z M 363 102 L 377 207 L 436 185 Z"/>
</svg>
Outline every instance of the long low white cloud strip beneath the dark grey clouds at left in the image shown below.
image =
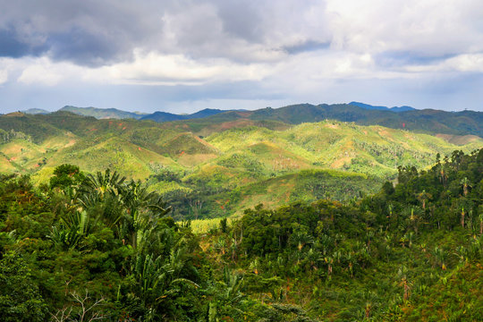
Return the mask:
<svg viewBox="0 0 483 322">
<path fill-rule="evenodd" d="M 18 82 L 44 86 L 55 86 L 61 82 L 202 85 L 216 81 L 262 80 L 271 73 L 266 64 L 240 64 L 225 58 L 194 60 L 185 55 L 144 54 L 140 51 L 135 51 L 132 62 L 104 67 L 55 62 L 47 57 L 10 59 L 9 64 L 4 65 L 19 74 Z M 6 69 L 4 75 L 6 81 Z M 0 80 L 3 79 L 0 77 Z"/>
</svg>

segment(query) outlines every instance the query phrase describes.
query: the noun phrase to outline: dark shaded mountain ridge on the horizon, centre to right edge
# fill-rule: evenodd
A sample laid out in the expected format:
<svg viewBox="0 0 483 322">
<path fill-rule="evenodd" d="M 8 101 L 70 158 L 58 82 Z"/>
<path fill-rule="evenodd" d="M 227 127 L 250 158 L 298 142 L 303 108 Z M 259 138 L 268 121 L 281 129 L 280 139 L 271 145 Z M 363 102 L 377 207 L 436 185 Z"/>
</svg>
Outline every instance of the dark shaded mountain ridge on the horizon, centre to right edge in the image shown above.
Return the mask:
<svg viewBox="0 0 483 322">
<path fill-rule="evenodd" d="M 256 111 L 231 111 L 198 120 L 176 121 L 186 129 L 206 136 L 217 128 L 231 128 L 236 123 L 278 122 L 285 124 L 338 120 L 359 125 L 382 125 L 393 129 L 429 134 L 476 135 L 483 137 L 483 113 L 475 111 L 445 112 L 433 109 L 394 113 L 391 110 L 365 109 L 348 104 L 314 106 L 299 104 Z M 215 126 L 216 125 L 216 126 Z M 172 126 L 172 125 L 168 125 Z"/>
</svg>

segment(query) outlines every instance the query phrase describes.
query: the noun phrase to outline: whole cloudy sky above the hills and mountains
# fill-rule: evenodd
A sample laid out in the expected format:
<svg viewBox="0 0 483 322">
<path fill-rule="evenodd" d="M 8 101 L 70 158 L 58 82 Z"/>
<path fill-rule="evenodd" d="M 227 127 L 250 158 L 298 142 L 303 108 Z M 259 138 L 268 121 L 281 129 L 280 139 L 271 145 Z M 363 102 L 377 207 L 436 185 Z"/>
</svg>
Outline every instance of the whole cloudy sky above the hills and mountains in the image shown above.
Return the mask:
<svg viewBox="0 0 483 322">
<path fill-rule="evenodd" d="M 0 0 L 0 113 L 483 111 L 481 0 Z"/>
</svg>

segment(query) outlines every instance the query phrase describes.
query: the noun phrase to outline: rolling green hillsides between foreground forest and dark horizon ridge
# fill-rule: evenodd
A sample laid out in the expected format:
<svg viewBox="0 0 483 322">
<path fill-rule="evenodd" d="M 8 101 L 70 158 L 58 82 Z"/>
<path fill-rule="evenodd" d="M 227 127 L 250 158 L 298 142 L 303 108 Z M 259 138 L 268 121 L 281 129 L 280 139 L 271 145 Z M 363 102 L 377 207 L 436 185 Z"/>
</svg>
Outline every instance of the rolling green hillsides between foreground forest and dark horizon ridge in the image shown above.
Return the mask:
<svg viewBox="0 0 483 322">
<path fill-rule="evenodd" d="M 359 198 L 394 180 L 399 166 L 426 168 L 437 153 L 483 147 L 477 136 L 436 137 L 338 121 L 229 121 L 233 114 L 250 113 L 212 116 L 221 123 L 199 119 L 199 131 L 207 134 L 202 138 L 190 123 L 97 120 L 62 111 L 4 115 L 0 172 L 47 182 L 62 164 L 87 173 L 109 168 L 163 191 L 176 218 L 213 217 L 240 214 L 259 202 L 277 207 L 326 195 Z"/>
</svg>

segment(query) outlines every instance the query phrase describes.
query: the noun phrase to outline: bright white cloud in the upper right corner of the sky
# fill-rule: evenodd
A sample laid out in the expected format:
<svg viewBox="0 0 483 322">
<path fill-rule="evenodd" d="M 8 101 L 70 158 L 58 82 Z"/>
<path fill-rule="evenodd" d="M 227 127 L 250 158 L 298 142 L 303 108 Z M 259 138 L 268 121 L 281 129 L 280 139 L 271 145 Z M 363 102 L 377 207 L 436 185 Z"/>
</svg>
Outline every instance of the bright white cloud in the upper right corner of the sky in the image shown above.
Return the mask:
<svg viewBox="0 0 483 322">
<path fill-rule="evenodd" d="M 330 0 L 327 11 L 335 46 L 347 50 L 429 56 L 483 50 L 481 1 Z"/>
</svg>

